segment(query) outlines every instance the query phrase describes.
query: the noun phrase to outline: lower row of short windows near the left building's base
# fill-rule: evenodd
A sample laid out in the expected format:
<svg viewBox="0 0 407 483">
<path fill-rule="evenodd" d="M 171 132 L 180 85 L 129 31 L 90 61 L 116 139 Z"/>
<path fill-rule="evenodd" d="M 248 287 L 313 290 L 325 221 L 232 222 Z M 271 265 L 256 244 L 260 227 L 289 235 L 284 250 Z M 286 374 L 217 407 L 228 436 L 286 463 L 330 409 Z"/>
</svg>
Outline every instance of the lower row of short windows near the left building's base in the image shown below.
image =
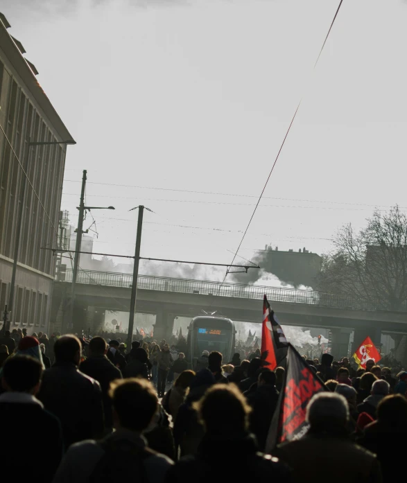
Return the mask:
<svg viewBox="0 0 407 483">
<path fill-rule="evenodd" d="M 0 312 L 4 310 L 10 283 L 0 280 Z M 41 326 L 46 325 L 48 309 L 48 294 L 24 287 L 15 288 L 15 306 L 12 310 L 11 329 L 16 325 Z"/>
</svg>

